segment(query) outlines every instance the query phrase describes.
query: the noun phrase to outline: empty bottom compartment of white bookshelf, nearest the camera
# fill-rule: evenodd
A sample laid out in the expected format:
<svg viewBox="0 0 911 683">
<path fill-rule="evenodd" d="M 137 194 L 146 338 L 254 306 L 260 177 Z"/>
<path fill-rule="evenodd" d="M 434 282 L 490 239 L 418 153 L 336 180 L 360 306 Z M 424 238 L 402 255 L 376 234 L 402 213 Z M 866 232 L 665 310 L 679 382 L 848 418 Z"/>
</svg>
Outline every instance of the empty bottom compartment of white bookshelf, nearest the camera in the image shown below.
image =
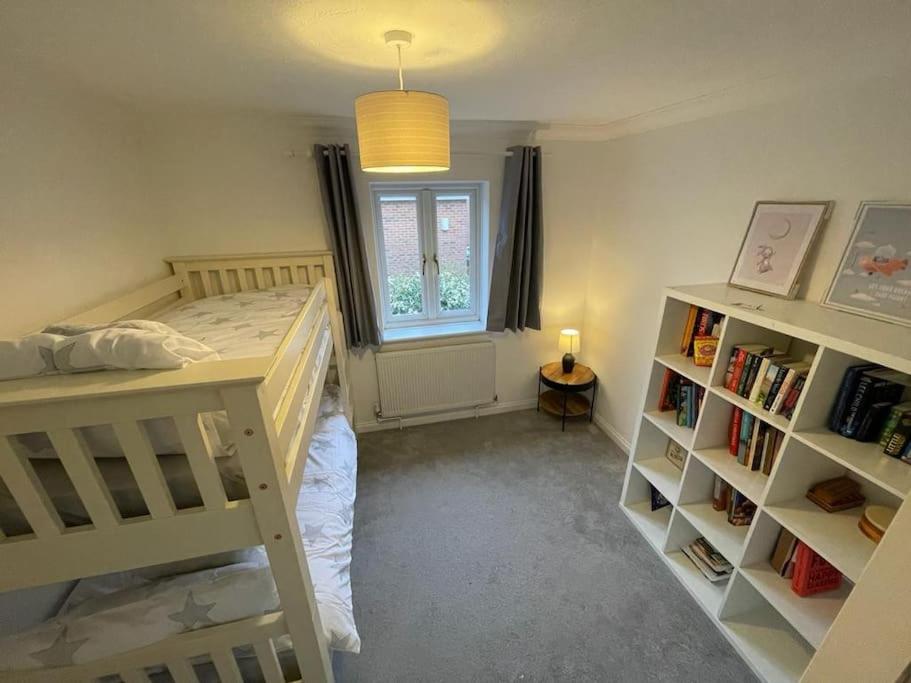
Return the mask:
<svg viewBox="0 0 911 683">
<path fill-rule="evenodd" d="M 740 572 L 721 606 L 721 623 L 734 646 L 763 679 L 797 681 L 814 649 Z"/>
</svg>

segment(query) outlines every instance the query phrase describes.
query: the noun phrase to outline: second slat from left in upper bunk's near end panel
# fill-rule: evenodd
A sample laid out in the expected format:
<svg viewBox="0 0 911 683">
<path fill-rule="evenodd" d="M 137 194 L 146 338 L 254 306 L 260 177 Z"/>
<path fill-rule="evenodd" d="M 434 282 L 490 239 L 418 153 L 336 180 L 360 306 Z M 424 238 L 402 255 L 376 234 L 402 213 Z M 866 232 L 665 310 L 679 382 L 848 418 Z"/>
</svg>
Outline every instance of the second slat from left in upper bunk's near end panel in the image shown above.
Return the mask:
<svg viewBox="0 0 911 683">
<path fill-rule="evenodd" d="M 52 429 L 47 435 L 95 528 L 113 529 L 120 524 L 120 511 L 82 434 L 75 429 Z"/>
</svg>

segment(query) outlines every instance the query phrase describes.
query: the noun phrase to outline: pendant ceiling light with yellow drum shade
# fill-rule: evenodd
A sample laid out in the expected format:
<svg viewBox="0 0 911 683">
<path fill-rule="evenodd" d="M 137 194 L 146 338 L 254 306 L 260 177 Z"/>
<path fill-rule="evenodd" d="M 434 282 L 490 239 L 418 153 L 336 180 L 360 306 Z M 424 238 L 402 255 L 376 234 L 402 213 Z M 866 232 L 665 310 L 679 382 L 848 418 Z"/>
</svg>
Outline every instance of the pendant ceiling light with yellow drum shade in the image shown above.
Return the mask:
<svg viewBox="0 0 911 683">
<path fill-rule="evenodd" d="M 449 170 L 449 102 L 442 95 L 405 90 L 402 48 L 408 31 L 388 31 L 386 45 L 399 57 L 399 89 L 361 95 L 354 101 L 361 169 L 371 173 Z"/>
</svg>

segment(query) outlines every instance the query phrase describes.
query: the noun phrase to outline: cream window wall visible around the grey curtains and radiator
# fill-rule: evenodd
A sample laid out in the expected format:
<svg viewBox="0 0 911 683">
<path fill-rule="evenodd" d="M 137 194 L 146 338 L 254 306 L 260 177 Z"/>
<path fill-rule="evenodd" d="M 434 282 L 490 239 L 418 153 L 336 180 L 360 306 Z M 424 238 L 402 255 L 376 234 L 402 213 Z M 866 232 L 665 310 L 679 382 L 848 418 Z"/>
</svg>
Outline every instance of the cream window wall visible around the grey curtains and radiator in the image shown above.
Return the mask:
<svg viewBox="0 0 911 683">
<path fill-rule="evenodd" d="M 161 229 L 173 253 L 231 253 L 324 249 L 327 233 L 313 159 L 314 142 L 353 144 L 350 123 L 333 126 L 292 115 L 163 114 L 146 125 L 152 173 L 159 187 Z M 454 125 L 452 170 L 433 180 L 490 183 L 490 239 L 495 239 L 504 158 L 499 152 L 522 144 L 521 126 Z M 289 156 L 289 152 L 294 156 Z M 497 391 L 505 404 L 535 396 L 537 367 L 558 357 L 561 327 L 580 326 L 593 215 L 585 206 L 586 185 L 597 153 L 578 143 L 550 143 L 543 162 L 545 282 L 541 332 L 493 335 L 497 345 Z M 361 220 L 369 227 L 369 176 L 355 164 Z M 400 179 L 400 178 L 399 178 Z M 410 175 L 409 181 L 420 180 Z M 368 248 L 373 258 L 373 243 Z M 378 400 L 373 354 L 352 357 L 356 419 L 373 421 Z"/>
</svg>

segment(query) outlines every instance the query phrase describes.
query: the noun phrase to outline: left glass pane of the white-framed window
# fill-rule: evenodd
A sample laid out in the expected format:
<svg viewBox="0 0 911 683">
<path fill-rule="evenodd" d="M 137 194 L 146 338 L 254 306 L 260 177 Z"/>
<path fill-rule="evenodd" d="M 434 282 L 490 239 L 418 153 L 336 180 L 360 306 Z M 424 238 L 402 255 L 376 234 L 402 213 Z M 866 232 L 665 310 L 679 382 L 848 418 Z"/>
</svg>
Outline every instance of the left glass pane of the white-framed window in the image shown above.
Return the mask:
<svg viewBox="0 0 911 683">
<path fill-rule="evenodd" d="M 421 274 L 421 233 L 418 198 L 387 195 L 380 198 L 386 292 L 392 315 L 424 312 L 424 279 Z"/>
</svg>

